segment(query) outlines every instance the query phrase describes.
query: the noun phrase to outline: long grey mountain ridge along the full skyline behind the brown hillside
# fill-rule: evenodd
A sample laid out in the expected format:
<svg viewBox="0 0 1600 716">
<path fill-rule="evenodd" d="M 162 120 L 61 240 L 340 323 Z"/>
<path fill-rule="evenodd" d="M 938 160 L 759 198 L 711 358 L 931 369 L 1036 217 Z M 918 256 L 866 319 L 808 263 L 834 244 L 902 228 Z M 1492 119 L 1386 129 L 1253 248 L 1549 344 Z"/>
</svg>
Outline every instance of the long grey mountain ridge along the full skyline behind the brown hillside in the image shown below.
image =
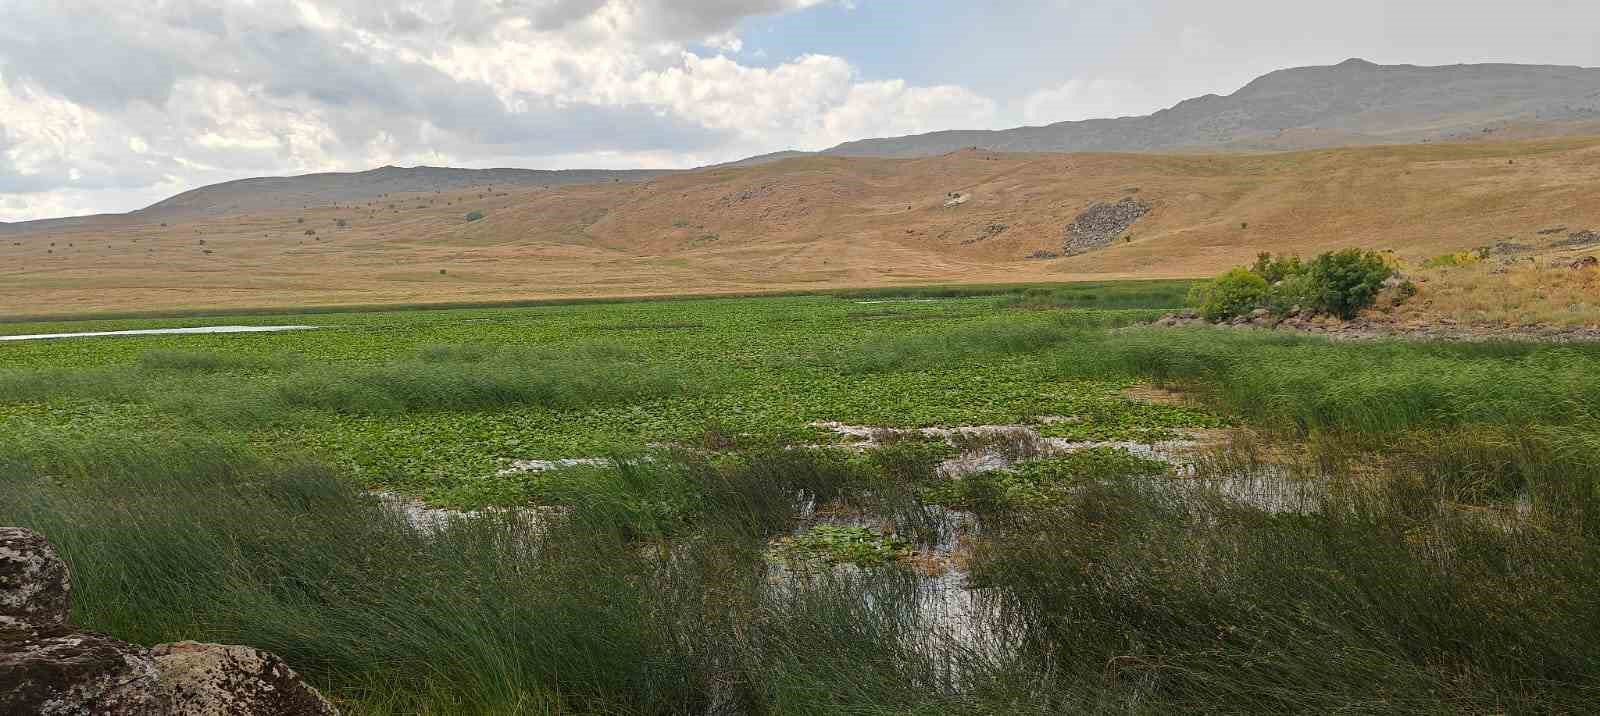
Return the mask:
<svg viewBox="0 0 1600 716">
<path fill-rule="evenodd" d="M 821 152 L 781 150 L 698 169 L 381 166 L 248 177 L 197 187 L 126 214 L 0 222 L 0 233 L 280 211 L 470 187 L 635 184 L 680 171 L 752 168 L 819 155 L 925 158 L 962 149 L 1013 153 L 1272 152 L 1469 141 L 1496 133 L 1518 139 L 1600 134 L 1600 69 L 1506 62 L 1382 66 L 1352 58 L 1334 66 L 1274 70 L 1232 94 L 1203 94 L 1139 117 L 858 139 Z"/>
</svg>

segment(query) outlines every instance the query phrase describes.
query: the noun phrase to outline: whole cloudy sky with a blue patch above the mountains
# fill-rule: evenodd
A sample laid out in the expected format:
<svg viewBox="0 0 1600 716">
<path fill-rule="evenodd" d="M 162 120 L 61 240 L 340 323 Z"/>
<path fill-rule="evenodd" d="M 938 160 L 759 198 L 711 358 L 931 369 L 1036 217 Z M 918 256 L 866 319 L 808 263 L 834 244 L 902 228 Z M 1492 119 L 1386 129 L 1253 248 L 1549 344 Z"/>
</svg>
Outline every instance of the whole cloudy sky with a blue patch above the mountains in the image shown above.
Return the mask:
<svg viewBox="0 0 1600 716">
<path fill-rule="evenodd" d="M 1595 27 L 1595 0 L 0 0 L 0 221 L 1141 115 L 1349 58 L 1594 67 Z"/>
</svg>

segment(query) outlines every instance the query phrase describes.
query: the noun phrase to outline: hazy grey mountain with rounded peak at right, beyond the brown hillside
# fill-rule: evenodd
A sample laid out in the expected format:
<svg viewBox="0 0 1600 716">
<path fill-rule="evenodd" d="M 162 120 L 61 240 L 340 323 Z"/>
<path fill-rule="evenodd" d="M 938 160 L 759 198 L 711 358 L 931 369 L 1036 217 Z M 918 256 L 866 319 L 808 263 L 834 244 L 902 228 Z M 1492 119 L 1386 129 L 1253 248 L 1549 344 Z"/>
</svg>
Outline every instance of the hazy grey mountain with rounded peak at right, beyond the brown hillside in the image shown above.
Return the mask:
<svg viewBox="0 0 1600 716">
<path fill-rule="evenodd" d="M 1350 58 L 1270 72 L 1234 94 L 1186 99 L 1147 117 L 866 139 L 824 153 L 933 157 L 970 145 L 1002 152 L 1309 149 L 1446 141 L 1552 120 L 1600 120 L 1600 69 L 1382 66 Z M 1285 144 L 1294 141 L 1306 144 Z"/>
</svg>

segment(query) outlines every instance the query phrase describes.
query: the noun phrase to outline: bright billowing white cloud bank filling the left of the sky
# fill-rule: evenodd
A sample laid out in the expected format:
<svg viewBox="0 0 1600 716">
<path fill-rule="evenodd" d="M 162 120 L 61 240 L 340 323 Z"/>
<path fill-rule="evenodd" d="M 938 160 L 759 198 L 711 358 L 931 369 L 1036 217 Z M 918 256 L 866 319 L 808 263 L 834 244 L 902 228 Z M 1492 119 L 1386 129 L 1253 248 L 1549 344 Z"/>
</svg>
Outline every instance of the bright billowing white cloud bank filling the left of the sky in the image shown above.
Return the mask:
<svg viewBox="0 0 1600 716">
<path fill-rule="evenodd" d="M 0 221 L 125 211 L 242 176 L 682 168 L 994 123 L 994 102 L 963 88 L 866 82 L 821 54 L 771 67 L 725 54 L 742 50 L 742 19 L 826 2 L 8 6 Z"/>
</svg>

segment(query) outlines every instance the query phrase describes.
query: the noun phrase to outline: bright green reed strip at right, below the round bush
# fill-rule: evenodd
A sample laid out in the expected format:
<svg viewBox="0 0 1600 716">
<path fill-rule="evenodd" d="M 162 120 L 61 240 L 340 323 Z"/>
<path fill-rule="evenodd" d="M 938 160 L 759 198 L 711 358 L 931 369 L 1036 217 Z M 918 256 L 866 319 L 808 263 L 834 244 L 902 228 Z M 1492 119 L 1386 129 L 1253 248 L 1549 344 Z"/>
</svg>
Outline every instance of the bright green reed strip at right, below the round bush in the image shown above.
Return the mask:
<svg viewBox="0 0 1600 716">
<path fill-rule="evenodd" d="M 1592 347 L 1147 329 L 1098 348 L 1064 368 L 1192 387 L 1253 422 L 1301 432 L 1573 425 L 1600 414 L 1600 350 Z"/>
</svg>

